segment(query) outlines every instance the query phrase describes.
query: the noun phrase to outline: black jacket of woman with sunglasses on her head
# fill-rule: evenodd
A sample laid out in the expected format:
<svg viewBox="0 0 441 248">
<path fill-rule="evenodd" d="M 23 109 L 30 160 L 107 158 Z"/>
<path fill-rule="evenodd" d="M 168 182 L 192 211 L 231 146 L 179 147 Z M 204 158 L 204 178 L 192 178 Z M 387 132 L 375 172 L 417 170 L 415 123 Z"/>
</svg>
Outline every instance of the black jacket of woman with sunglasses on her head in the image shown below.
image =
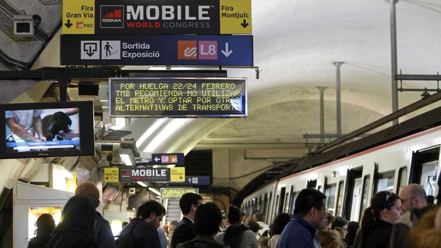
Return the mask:
<svg viewBox="0 0 441 248">
<path fill-rule="evenodd" d="M 363 232 L 363 230 L 361 230 Z M 392 224 L 381 219 L 375 219 L 373 227 L 366 240 L 363 240 L 363 248 L 388 248 L 392 234 Z"/>
</svg>

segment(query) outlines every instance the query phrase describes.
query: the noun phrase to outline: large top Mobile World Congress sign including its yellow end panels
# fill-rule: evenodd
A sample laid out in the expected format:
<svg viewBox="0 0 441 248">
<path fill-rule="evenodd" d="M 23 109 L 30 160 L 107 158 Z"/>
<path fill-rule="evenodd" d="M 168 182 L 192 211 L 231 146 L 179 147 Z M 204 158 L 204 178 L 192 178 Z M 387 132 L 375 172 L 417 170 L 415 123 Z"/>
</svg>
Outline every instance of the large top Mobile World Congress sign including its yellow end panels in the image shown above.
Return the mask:
<svg viewBox="0 0 441 248">
<path fill-rule="evenodd" d="M 251 0 L 64 0 L 63 34 L 251 34 Z"/>
</svg>

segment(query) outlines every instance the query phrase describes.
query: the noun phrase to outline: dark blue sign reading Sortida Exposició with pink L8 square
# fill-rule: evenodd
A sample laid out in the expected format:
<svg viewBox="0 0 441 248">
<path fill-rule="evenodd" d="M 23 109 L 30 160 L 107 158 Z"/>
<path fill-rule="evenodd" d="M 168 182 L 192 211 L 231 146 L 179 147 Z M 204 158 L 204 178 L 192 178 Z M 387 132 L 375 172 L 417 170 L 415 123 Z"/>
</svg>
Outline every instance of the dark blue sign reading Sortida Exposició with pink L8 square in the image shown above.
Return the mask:
<svg viewBox="0 0 441 248">
<path fill-rule="evenodd" d="M 253 36 L 62 35 L 62 65 L 253 66 Z"/>
</svg>

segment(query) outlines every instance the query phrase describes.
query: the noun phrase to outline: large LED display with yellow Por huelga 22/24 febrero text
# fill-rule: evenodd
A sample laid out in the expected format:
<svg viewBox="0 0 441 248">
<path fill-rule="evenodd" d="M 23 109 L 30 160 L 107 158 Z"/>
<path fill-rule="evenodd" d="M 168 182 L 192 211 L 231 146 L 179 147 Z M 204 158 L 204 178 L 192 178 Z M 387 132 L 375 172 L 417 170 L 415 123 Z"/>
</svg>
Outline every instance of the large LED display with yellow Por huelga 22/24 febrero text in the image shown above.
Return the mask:
<svg viewBox="0 0 441 248">
<path fill-rule="evenodd" d="M 246 117 L 245 78 L 110 78 L 110 117 Z"/>
</svg>

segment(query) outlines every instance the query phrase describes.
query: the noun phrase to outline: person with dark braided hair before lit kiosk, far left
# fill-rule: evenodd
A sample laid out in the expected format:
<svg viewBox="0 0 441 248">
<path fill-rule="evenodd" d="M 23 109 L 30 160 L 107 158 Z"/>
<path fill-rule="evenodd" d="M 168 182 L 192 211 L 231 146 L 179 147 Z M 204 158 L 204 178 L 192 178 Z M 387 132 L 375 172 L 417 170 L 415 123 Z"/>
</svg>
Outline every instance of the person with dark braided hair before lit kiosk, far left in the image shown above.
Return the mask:
<svg viewBox="0 0 441 248">
<path fill-rule="evenodd" d="M 34 232 L 36 236 L 29 240 L 28 248 L 44 248 L 55 229 L 55 220 L 52 215 L 44 213 L 38 217 L 35 226 L 37 226 Z"/>
</svg>

